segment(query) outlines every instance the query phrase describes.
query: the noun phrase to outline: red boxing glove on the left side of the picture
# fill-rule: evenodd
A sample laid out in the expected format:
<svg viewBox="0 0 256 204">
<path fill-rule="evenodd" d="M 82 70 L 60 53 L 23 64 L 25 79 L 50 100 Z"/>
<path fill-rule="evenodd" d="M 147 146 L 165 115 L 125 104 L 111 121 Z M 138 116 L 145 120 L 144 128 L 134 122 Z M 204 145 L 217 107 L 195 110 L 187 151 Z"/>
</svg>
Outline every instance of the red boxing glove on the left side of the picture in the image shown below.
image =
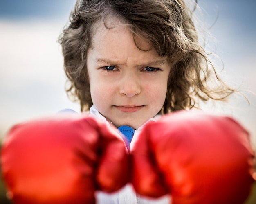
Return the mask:
<svg viewBox="0 0 256 204">
<path fill-rule="evenodd" d="M 94 204 L 96 190 L 116 191 L 129 179 L 124 141 L 91 117 L 14 126 L 4 142 L 1 163 L 16 204 Z"/>
</svg>

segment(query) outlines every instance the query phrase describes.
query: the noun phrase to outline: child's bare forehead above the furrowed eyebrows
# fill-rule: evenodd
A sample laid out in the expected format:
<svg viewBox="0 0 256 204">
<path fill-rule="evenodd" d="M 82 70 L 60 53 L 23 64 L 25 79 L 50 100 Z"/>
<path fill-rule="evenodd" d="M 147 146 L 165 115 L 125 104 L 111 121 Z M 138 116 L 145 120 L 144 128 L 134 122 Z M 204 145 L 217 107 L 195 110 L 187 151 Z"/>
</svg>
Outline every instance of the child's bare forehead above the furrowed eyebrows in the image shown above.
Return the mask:
<svg viewBox="0 0 256 204">
<path fill-rule="evenodd" d="M 166 57 L 157 55 L 146 39 L 132 33 L 130 25 L 118 18 L 111 17 L 97 22 L 94 31 L 92 48 L 89 50 L 90 57 L 110 59 L 130 65 L 166 60 Z"/>
</svg>

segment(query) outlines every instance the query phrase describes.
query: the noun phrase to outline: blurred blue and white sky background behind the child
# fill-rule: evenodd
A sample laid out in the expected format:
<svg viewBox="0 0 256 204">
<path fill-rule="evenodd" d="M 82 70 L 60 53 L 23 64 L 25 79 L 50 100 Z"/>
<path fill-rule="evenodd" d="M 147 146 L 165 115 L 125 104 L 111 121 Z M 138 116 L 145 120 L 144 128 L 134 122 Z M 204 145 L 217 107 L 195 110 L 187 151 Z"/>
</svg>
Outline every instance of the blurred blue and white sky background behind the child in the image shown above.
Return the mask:
<svg viewBox="0 0 256 204">
<path fill-rule="evenodd" d="M 65 93 L 65 73 L 58 36 L 75 0 L 0 0 L 0 140 L 15 123 L 52 115 L 64 108 L 79 112 Z M 225 107 L 207 107 L 229 114 L 252 134 L 256 147 L 256 1 L 198 0 L 205 28 L 215 38 L 207 46 L 220 76 L 244 97 Z M 0 182 L 0 203 L 8 203 Z M 256 203 L 252 193 L 247 204 Z"/>
</svg>

